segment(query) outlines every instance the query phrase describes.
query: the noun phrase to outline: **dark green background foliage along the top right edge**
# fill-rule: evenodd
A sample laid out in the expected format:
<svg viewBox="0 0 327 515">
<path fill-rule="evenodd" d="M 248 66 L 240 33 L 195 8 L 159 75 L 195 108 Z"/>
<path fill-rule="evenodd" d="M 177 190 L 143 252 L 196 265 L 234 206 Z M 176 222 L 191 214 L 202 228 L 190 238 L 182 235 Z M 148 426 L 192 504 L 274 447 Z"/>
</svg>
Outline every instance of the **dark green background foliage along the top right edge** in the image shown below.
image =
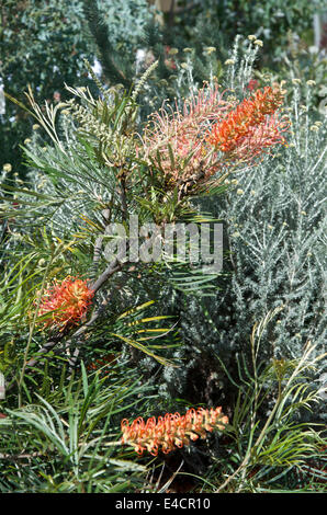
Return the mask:
<svg viewBox="0 0 327 515">
<path fill-rule="evenodd" d="M 256 34 L 264 41 L 267 52 L 261 64 L 269 67 L 280 61 L 292 32 L 307 43 L 313 35 L 313 15 L 323 12 L 324 2 L 291 0 L 195 0 L 180 1 L 176 15 L 168 13 L 170 38 L 184 38 L 184 46 L 202 45 L 228 48 L 236 34 Z M 168 32 L 168 31 L 167 31 Z"/>
</svg>

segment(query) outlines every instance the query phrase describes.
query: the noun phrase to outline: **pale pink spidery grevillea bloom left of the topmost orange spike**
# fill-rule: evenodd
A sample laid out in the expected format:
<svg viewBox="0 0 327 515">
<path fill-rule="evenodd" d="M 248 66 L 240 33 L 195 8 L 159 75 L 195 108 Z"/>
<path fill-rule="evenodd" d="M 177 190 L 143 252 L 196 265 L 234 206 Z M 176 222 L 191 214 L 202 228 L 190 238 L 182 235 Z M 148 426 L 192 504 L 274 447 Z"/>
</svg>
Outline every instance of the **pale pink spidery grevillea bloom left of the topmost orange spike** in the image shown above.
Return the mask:
<svg viewBox="0 0 327 515">
<path fill-rule="evenodd" d="M 204 135 L 211 123 L 224 119 L 233 104 L 224 100 L 218 85 L 205 85 L 196 95 L 184 101 L 182 108 L 167 110 L 165 105 L 151 115 L 139 150 L 150 168 L 165 175 L 165 188 L 212 175 L 219 164 L 205 146 Z"/>
</svg>

